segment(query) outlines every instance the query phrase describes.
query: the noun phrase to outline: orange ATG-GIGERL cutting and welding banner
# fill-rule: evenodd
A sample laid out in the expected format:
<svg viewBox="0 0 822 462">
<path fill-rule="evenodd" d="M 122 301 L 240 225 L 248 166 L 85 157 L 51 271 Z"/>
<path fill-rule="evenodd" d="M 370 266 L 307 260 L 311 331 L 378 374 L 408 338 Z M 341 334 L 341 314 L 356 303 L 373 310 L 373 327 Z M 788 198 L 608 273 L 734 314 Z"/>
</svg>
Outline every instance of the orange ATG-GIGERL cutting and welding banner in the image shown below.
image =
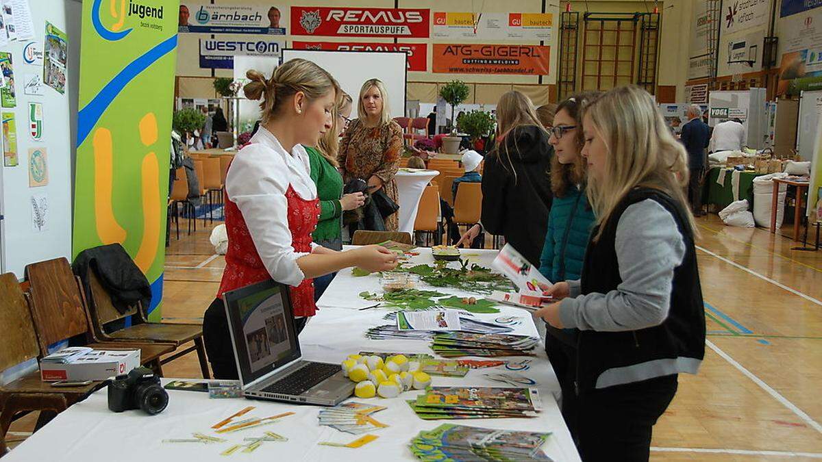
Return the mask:
<svg viewBox="0 0 822 462">
<path fill-rule="evenodd" d="M 543 45 L 433 44 L 433 72 L 547 76 L 551 47 Z"/>
</svg>

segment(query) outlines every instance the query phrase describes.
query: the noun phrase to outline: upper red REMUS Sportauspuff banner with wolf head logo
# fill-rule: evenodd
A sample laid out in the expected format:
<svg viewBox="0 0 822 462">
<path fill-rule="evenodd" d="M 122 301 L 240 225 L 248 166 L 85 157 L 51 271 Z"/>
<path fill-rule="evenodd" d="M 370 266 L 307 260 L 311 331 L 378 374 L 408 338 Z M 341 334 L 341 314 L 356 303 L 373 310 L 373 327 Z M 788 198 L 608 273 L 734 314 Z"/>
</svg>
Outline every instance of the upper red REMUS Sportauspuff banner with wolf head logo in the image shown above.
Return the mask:
<svg viewBox="0 0 822 462">
<path fill-rule="evenodd" d="M 291 35 L 425 39 L 428 23 L 420 8 L 291 7 Z"/>
</svg>

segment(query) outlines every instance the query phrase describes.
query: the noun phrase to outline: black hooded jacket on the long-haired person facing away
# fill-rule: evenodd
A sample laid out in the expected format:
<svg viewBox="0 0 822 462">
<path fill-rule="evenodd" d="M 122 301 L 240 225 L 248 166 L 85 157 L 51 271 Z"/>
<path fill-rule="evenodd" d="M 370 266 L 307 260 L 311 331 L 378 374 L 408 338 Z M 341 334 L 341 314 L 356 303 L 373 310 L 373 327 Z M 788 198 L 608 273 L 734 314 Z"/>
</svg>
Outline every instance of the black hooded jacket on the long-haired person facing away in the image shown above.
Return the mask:
<svg viewBox="0 0 822 462">
<path fill-rule="evenodd" d="M 535 126 L 515 128 L 504 143 L 485 157 L 483 228 L 505 236 L 522 256 L 538 265 L 553 199 L 548 176 L 553 146 Z"/>
</svg>

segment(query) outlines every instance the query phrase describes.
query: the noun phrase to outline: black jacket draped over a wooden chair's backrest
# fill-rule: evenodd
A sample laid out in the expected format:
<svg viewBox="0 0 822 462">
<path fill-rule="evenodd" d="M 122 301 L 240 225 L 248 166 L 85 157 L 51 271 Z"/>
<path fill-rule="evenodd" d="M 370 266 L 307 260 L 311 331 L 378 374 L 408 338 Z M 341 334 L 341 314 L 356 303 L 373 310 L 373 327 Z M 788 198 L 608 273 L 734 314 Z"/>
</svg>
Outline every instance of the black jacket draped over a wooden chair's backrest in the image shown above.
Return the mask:
<svg viewBox="0 0 822 462">
<path fill-rule="evenodd" d="M 151 285 L 126 249 L 120 244 L 93 247 L 74 259 L 74 274 L 80 276 L 85 293 L 91 293 L 89 270 L 93 270 L 100 284 L 111 295 L 111 302 L 118 312 L 124 313 L 137 302 L 145 310 L 151 304 Z"/>
</svg>

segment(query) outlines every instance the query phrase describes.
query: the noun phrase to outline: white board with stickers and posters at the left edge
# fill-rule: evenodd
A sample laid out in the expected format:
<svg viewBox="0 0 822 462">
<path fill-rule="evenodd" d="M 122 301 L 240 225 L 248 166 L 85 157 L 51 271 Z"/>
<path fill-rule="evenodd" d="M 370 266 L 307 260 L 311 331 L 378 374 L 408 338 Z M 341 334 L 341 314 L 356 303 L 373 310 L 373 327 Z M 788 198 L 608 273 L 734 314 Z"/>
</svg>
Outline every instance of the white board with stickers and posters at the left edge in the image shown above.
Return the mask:
<svg viewBox="0 0 822 462">
<path fill-rule="evenodd" d="M 82 4 L 77 0 L 38 0 L 30 2 L 34 23 L 34 39 L 16 40 L 2 47 L 12 53 L 12 68 L 16 108 L 17 159 L 15 167 L 2 169 L 2 271 L 12 271 L 23 277 L 25 265 L 56 258 L 72 257 L 72 166 L 76 138 L 77 75 L 80 68 L 80 24 Z M 67 34 L 68 57 L 65 94 L 44 86 L 43 95 L 26 95 L 27 74 L 43 75 L 43 62 L 26 63 L 23 49 L 34 41 L 43 51 L 45 21 Z M 33 141 L 29 133 L 29 103 L 43 104 L 42 141 Z M 74 117 L 71 117 L 74 114 Z M 48 184 L 29 186 L 29 149 L 45 148 L 48 164 Z M 35 231 L 32 224 L 32 196 L 45 196 L 48 201 L 47 222 Z"/>
</svg>

